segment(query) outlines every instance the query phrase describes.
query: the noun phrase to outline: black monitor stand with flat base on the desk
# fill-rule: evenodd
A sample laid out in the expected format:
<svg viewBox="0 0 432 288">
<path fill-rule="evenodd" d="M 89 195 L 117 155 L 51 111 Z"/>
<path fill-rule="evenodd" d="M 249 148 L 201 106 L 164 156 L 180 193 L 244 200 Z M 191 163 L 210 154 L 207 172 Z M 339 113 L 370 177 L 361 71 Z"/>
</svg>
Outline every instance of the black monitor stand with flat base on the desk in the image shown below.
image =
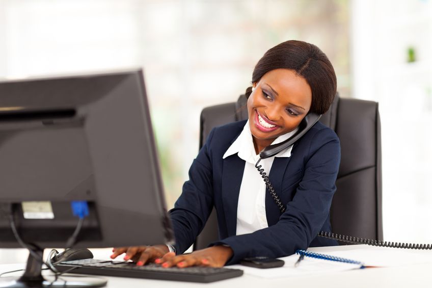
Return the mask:
<svg viewBox="0 0 432 288">
<path fill-rule="evenodd" d="M 32 253 L 29 254 L 25 272 L 21 277 L 1 277 L 0 287 L 8 288 L 83 288 L 83 287 L 103 287 L 106 280 L 96 277 L 74 277 L 55 275 L 42 276 L 43 250 L 33 250 L 38 256 L 36 259 Z"/>
</svg>

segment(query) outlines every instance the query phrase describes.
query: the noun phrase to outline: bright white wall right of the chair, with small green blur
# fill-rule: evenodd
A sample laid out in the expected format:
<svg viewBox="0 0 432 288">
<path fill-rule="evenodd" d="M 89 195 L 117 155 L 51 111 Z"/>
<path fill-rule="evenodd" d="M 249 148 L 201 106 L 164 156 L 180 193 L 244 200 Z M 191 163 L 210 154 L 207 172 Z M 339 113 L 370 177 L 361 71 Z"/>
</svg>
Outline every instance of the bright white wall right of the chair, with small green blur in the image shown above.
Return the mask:
<svg viewBox="0 0 432 288">
<path fill-rule="evenodd" d="M 432 3 L 352 3 L 353 95 L 381 113 L 384 239 L 432 243 Z"/>
</svg>

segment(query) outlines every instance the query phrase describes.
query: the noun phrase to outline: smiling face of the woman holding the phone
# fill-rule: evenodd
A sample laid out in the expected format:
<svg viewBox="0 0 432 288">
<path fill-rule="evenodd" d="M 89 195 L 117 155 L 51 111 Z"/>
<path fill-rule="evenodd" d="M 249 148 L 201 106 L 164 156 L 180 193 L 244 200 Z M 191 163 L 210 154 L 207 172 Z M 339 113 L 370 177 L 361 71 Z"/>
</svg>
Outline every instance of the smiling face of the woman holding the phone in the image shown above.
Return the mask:
<svg viewBox="0 0 432 288">
<path fill-rule="evenodd" d="M 293 70 L 265 73 L 248 99 L 249 125 L 256 149 L 270 145 L 291 132 L 309 112 L 312 91 L 305 78 Z"/>
</svg>

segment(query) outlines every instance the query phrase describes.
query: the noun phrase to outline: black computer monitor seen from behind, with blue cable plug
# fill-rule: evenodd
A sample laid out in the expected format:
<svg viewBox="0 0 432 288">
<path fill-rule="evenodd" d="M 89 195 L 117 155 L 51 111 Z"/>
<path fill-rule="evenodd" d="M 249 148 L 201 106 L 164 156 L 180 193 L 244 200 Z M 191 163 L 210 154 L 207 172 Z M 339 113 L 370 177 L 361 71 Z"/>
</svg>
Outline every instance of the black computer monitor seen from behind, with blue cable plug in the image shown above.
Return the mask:
<svg viewBox="0 0 432 288">
<path fill-rule="evenodd" d="M 0 82 L 0 248 L 173 242 L 156 150 L 141 70 Z"/>
</svg>

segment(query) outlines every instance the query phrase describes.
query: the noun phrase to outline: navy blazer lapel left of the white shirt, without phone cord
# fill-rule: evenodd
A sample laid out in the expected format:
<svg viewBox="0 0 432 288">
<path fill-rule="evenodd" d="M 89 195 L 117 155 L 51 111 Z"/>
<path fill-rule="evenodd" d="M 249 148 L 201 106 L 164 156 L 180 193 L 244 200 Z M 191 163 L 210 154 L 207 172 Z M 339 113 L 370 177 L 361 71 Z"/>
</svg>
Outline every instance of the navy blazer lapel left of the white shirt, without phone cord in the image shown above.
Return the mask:
<svg viewBox="0 0 432 288">
<path fill-rule="evenodd" d="M 237 204 L 241 179 L 245 170 L 245 161 L 237 154 L 228 156 L 223 162 L 222 171 L 222 202 L 228 235 L 235 235 L 237 229 Z"/>
</svg>

